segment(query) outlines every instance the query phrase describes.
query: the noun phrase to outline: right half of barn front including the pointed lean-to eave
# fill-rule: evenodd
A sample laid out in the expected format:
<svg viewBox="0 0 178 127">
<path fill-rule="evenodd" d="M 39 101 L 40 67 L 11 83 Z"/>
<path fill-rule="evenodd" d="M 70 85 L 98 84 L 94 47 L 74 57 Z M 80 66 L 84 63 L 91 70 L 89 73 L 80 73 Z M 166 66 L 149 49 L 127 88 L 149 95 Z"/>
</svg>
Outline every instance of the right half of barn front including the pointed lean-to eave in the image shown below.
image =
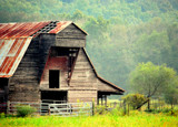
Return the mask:
<svg viewBox="0 0 178 127">
<path fill-rule="evenodd" d="M 81 96 L 75 93 L 80 93 Z M 78 99 L 82 102 L 97 100 L 100 93 L 107 93 L 107 95 L 121 94 L 122 89 L 98 76 L 86 50 L 80 49 L 70 81 L 69 102 Z"/>
</svg>

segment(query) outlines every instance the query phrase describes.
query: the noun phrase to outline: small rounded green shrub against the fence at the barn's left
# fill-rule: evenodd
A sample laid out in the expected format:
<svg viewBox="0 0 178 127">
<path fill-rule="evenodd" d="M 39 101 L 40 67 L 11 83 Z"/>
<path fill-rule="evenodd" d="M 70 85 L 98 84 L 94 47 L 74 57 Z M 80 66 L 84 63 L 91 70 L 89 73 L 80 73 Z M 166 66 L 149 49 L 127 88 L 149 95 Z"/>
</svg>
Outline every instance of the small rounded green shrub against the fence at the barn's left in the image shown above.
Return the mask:
<svg viewBox="0 0 178 127">
<path fill-rule="evenodd" d="M 37 109 L 34 107 L 31 107 L 29 105 L 18 105 L 17 106 L 17 116 L 19 117 L 26 117 L 29 115 L 32 115 Z"/>
</svg>

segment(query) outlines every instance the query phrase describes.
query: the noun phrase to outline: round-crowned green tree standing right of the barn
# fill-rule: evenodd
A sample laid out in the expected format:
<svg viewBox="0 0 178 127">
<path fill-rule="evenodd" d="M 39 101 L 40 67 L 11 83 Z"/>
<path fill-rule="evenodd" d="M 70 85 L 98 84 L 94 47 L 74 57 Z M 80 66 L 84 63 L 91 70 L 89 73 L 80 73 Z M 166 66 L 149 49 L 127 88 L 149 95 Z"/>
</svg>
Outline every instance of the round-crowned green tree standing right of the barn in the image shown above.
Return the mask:
<svg viewBox="0 0 178 127">
<path fill-rule="evenodd" d="M 139 64 L 130 74 L 131 89 L 148 97 L 147 102 L 154 95 L 164 94 L 169 86 L 177 83 L 176 81 L 177 74 L 174 68 L 154 65 L 151 62 Z"/>
</svg>

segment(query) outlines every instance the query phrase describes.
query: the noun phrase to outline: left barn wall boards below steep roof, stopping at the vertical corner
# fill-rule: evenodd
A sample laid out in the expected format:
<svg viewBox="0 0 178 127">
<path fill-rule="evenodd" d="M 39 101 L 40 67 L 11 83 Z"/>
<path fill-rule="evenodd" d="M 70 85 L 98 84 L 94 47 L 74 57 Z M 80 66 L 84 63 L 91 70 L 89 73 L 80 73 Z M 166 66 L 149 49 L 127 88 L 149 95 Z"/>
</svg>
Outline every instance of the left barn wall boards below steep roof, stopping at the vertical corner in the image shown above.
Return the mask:
<svg viewBox="0 0 178 127">
<path fill-rule="evenodd" d="M 9 81 L 9 100 L 39 102 L 39 39 L 32 40 L 16 73 Z"/>
</svg>

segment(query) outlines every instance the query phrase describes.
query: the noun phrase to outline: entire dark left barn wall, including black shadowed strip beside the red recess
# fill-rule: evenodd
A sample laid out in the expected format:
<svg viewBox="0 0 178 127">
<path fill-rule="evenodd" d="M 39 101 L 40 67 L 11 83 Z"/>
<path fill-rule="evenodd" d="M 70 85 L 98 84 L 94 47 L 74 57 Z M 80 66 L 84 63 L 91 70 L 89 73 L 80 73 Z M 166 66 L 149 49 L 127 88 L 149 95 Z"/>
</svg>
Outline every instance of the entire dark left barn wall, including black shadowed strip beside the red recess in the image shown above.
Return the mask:
<svg viewBox="0 0 178 127">
<path fill-rule="evenodd" d="M 41 34 L 30 42 L 16 73 L 9 80 L 9 100 L 40 100 L 39 81 L 51 45 L 55 45 L 53 34 Z"/>
</svg>

